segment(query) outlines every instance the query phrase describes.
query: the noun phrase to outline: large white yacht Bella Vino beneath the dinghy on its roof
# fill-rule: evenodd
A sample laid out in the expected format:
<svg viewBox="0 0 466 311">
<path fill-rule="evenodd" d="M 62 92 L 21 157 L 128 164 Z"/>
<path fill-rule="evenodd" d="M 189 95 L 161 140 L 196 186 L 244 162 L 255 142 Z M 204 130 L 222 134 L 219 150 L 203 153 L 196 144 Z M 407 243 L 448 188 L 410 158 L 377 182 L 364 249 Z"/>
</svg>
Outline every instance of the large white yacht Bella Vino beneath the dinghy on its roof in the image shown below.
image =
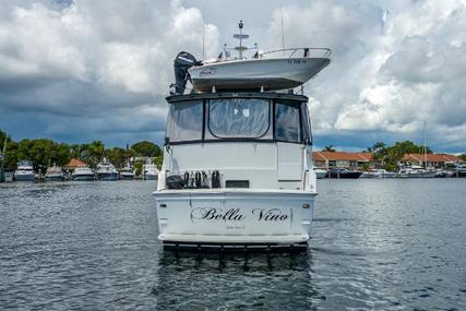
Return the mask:
<svg viewBox="0 0 466 311">
<path fill-rule="evenodd" d="M 240 76 L 235 92 L 211 80 L 183 94 L 196 61 L 182 55 L 181 68 L 179 57 L 154 193 L 158 239 L 180 248 L 306 248 L 316 195 L 308 98 L 265 85 L 237 89 L 250 83 Z"/>
</svg>

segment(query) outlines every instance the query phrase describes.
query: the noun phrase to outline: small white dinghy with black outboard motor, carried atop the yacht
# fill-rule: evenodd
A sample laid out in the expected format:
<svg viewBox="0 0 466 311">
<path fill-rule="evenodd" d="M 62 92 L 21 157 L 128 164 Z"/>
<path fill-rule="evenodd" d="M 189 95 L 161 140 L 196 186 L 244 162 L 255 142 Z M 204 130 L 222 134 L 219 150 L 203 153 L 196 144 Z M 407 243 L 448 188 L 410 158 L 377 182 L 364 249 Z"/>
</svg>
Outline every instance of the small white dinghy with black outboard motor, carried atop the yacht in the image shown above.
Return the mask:
<svg viewBox="0 0 466 311">
<path fill-rule="evenodd" d="M 191 81 L 195 92 L 218 91 L 277 91 L 289 89 L 302 85 L 315 76 L 331 62 L 332 51 L 328 48 L 288 48 L 262 52 L 255 45 L 253 48 L 242 46 L 242 22 L 240 40 L 237 50 L 239 56 L 231 57 L 229 48 L 216 59 L 198 61 L 192 55 L 182 51 L 175 59 L 176 84 L 172 94 L 184 93 L 187 81 Z M 243 52 L 253 49 L 250 58 Z"/>
</svg>

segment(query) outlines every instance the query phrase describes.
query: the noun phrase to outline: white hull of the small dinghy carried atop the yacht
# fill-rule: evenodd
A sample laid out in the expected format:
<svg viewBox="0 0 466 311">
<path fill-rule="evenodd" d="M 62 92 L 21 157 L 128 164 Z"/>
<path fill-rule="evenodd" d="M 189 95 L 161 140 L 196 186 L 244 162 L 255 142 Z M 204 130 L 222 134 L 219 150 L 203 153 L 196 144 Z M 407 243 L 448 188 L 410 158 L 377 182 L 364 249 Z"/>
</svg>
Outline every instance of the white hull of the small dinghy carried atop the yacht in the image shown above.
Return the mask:
<svg viewBox="0 0 466 311">
<path fill-rule="evenodd" d="M 297 87 L 324 69 L 327 58 L 247 59 L 207 63 L 189 69 L 193 87 L 201 92 L 285 89 Z"/>
</svg>

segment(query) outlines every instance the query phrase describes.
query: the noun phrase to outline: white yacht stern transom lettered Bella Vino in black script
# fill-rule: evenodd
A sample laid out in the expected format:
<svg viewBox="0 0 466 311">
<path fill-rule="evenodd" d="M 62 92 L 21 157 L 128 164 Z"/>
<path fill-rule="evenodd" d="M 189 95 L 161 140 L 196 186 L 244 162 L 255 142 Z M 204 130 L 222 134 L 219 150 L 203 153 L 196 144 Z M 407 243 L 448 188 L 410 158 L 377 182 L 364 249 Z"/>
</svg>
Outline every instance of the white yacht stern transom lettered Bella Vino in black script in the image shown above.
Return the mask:
<svg viewBox="0 0 466 311">
<path fill-rule="evenodd" d="M 294 244 L 309 240 L 314 196 L 307 191 L 162 190 L 155 193 L 164 243 Z"/>
</svg>

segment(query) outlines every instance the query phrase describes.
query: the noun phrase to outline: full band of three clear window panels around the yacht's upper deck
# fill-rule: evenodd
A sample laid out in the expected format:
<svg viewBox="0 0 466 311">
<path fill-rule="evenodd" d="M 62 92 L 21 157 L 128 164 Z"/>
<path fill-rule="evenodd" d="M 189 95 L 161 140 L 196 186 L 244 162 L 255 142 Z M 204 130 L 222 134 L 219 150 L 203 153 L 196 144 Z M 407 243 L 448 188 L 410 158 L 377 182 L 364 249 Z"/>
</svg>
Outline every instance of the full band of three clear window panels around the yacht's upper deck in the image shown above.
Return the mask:
<svg viewBox="0 0 466 311">
<path fill-rule="evenodd" d="M 310 144 L 307 103 L 216 98 L 170 105 L 167 143 L 277 141 Z"/>
</svg>

